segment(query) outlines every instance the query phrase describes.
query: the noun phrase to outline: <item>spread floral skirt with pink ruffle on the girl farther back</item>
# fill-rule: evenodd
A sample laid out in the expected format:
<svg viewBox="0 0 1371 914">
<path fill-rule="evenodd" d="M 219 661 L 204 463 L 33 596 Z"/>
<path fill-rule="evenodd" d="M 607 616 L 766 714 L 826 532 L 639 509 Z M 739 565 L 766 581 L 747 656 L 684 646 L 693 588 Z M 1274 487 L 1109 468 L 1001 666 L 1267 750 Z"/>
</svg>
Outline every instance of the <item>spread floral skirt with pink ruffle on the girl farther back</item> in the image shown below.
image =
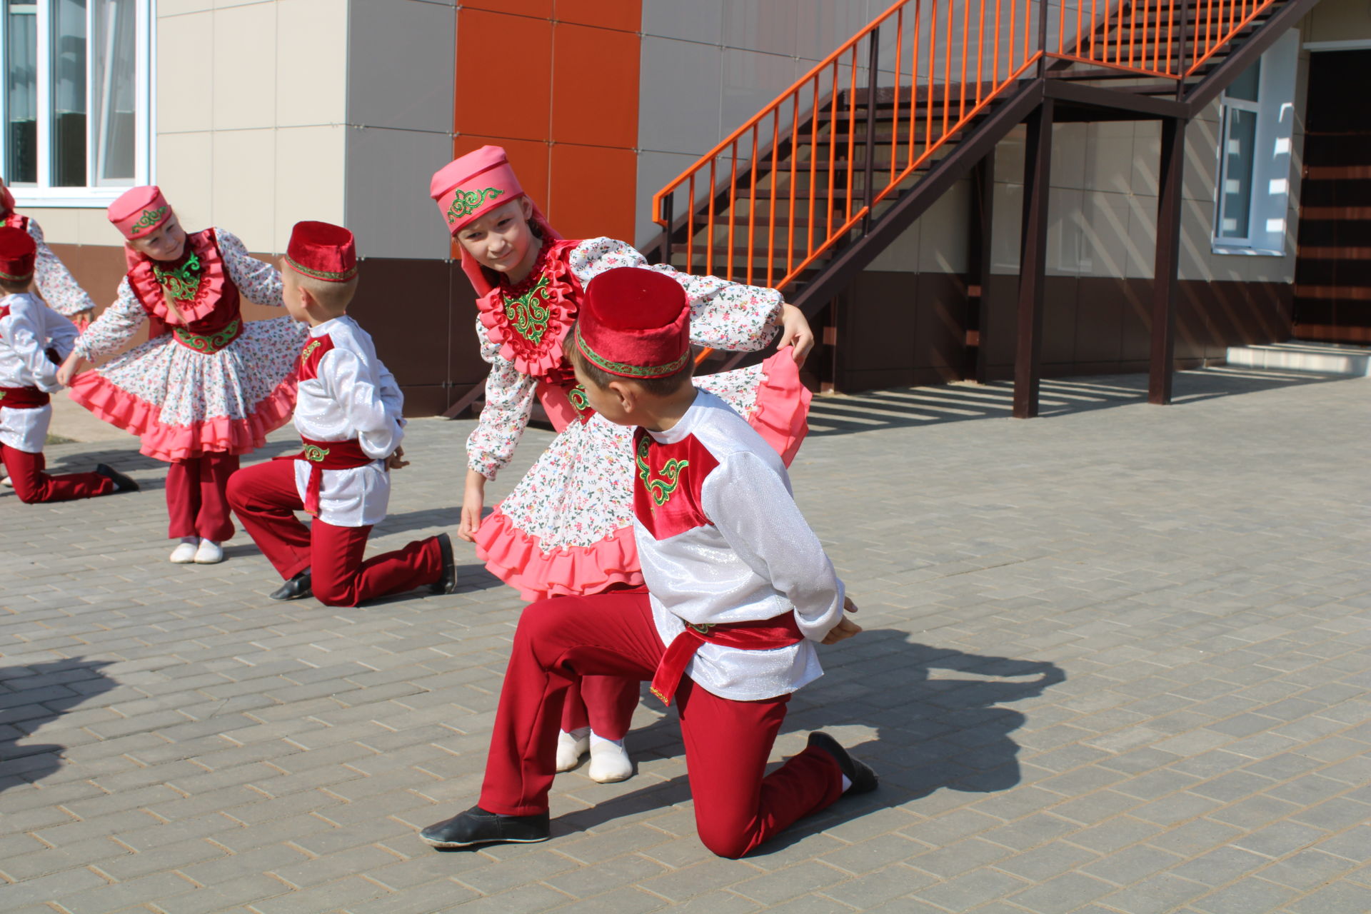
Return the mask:
<svg viewBox="0 0 1371 914">
<path fill-rule="evenodd" d="M 163 333 L 77 375 L 69 395 L 137 434 L 138 449 L 159 460 L 248 454 L 291 418 L 306 333 L 291 318 L 250 321 L 237 340 L 210 355 Z"/>
</svg>

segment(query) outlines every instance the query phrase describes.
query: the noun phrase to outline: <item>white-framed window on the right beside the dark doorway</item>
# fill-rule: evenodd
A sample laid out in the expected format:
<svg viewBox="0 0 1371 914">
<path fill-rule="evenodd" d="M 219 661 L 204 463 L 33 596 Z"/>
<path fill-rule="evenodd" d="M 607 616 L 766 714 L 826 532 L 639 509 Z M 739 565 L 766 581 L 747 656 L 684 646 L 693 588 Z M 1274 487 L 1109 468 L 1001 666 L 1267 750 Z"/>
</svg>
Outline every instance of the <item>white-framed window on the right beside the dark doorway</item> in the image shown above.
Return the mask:
<svg viewBox="0 0 1371 914">
<path fill-rule="evenodd" d="M 1291 30 L 1224 89 L 1215 254 L 1286 254 L 1298 52 L 1298 30 Z"/>
</svg>

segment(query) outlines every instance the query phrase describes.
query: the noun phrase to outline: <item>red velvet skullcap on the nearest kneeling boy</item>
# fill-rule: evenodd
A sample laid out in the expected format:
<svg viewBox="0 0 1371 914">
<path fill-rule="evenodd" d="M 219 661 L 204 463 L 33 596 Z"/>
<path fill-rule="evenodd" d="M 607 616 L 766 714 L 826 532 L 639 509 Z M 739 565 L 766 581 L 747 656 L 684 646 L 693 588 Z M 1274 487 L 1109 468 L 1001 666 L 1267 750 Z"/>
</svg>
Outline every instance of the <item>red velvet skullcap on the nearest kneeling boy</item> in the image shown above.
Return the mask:
<svg viewBox="0 0 1371 914">
<path fill-rule="evenodd" d="M 616 267 L 585 285 L 576 318 L 585 360 L 624 378 L 665 378 L 690 360 L 690 299 L 680 282 L 642 267 Z"/>
</svg>

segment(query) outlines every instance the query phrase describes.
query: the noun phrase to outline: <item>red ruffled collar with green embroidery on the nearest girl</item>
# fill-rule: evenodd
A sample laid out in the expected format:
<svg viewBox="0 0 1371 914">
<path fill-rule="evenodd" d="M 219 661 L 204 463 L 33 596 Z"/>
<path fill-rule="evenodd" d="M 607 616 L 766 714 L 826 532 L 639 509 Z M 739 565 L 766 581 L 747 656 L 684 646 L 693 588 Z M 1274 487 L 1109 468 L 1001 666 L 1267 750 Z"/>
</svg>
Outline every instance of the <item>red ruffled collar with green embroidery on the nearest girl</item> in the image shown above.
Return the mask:
<svg viewBox="0 0 1371 914">
<path fill-rule="evenodd" d="M 522 282 L 502 282 L 476 300 L 481 325 L 500 345 L 500 355 L 521 374 L 551 384 L 563 384 L 570 375 L 562 340 L 576 319 L 581 284 L 566 255 L 577 244 L 572 238 L 548 238 Z"/>
</svg>

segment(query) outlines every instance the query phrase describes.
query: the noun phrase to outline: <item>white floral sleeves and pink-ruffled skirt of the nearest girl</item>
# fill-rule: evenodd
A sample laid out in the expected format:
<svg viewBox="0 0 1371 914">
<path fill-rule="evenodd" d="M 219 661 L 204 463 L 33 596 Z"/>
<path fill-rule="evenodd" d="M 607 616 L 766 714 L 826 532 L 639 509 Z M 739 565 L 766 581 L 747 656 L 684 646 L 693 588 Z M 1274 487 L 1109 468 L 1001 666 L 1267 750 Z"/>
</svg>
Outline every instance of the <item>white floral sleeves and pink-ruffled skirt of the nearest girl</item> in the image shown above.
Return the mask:
<svg viewBox="0 0 1371 914">
<path fill-rule="evenodd" d="M 621 266 L 658 270 L 679 281 L 691 303 L 691 341 L 718 349 L 755 351 L 775 337 L 781 296 L 764 289 L 648 266 L 642 254 L 613 238 L 550 245 L 565 258 L 581 288 Z M 540 263 L 535 270 L 544 269 Z M 491 365 L 485 408 L 468 439 L 468 465 L 487 478 L 509 463 L 528 425 L 537 380 L 521 373 L 477 321 L 481 358 Z M 803 437 L 808 392 L 790 352 L 766 363 L 695 378 L 743 418 L 765 411 L 758 429 L 794 455 Z M 766 402 L 766 408 L 762 408 Z M 755 426 L 755 423 L 754 423 Z M 477 555 L 525 600 L 592 593 L 611 584 L 640 584 L 632 536 L 632 429 L 600 415 L 572 422 L 548 445 L 514 491 L 481 522 Z"/>
</svg>

